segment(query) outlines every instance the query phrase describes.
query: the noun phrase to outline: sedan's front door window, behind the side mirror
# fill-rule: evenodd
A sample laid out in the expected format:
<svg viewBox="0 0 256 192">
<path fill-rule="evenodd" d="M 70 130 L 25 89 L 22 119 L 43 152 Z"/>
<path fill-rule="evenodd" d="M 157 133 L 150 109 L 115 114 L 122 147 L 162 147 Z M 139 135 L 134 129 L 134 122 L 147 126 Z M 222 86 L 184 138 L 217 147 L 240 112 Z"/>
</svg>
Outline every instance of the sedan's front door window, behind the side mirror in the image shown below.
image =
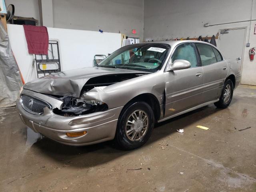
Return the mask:
<svg viewBox="0 0 256 192">
<path fill-rule="evenodd" d="M 197 60 L 193 44 L 186 43 L 178 46 L 178 48 L 176 48 L 174 54 L 172 55 L 172 62 L 177 59 L 187 60 L 191 63 L 191 67 L 196 67 Z"/>
</svg>

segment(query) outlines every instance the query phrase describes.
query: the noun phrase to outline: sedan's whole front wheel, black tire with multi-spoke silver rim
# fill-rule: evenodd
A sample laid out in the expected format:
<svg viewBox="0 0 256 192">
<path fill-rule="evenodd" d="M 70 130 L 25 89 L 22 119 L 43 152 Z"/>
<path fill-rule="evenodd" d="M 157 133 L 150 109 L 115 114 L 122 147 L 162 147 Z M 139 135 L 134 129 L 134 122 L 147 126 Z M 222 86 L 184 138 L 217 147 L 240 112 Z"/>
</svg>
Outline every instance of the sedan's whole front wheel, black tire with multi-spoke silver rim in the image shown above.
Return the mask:
<svg viewBox="0 0 256 192">
<path fill-rule="evenodd" d="M 146 102 L 126 106 L 118 119 L 115 141 L 123 150 L 144 145 L 154 128 L 152 108 Z"/>
</svg>

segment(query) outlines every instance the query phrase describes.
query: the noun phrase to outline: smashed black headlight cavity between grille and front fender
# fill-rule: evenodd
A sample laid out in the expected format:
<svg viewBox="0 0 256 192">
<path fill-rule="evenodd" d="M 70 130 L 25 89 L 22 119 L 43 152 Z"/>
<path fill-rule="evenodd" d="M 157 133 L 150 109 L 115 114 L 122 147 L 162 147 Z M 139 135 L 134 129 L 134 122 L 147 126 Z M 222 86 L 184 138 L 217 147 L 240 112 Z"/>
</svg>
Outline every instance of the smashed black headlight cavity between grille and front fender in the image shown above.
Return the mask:
<svg viewBox="0 0 256 192">
<path fill-rule="evenodd" d="M 108 106 L 97 100 L 82 100 L 80 98 L 72 98 L 64 96 L 62 109 L 54 109 L 53 112 L 63 116 L 78 116 L 106 110 Z"/>
</svg>

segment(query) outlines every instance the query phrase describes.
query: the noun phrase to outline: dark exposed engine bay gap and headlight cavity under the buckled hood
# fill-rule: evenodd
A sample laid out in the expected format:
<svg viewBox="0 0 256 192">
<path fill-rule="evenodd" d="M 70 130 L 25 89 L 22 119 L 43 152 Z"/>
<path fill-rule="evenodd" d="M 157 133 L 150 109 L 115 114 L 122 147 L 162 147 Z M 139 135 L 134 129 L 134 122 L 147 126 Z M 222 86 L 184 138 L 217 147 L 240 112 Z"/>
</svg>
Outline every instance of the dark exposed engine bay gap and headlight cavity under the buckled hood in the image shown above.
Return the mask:
<svg viewBox="0 0 256 192">
<path fill-rule="evenodd" d="M 82 96 L 86 95 L 86 92 L 92 90 L 95 87 L 105 87 L 118 82 L 136 78 L 148 73 L 131 73 L 131 74 L 111 74 L 104 76 L 97 76 L 90 78 L 86 84 L 84 84 L 80 98 L 74 98 L 72 96 L 58 96 L 58 100 L 63 101 L 62 109 L 55 108 L 53 112 L 62 116 L 79 116 L 90 114 L 94 112 L 100 112 L 108 109 L 108 105 L 98 100 L 84 100 Z M 56 97 L 56 96 L 54 96 Z"/>
</svg>

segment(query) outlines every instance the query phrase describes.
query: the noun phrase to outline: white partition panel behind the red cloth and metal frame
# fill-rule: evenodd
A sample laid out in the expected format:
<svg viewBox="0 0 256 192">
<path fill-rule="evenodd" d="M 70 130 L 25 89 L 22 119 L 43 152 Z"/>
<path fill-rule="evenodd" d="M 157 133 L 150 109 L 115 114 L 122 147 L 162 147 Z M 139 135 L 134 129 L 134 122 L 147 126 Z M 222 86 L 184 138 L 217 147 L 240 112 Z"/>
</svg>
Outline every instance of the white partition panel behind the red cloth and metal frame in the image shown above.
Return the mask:
<svg viewBox="0 0 256 192">
<path fill-rule="evenodd" d="M 33 55 L 28 54 L 22 25 L 7 25 L 12 51 L 25 82 L 37 77 L 32 67 Z M 108 55 L 121 47 L 121 34 L 47 28 L 49 39 L 59 41 L 62 70 L 93 66 L 96 54 Z"/>
</svg>

